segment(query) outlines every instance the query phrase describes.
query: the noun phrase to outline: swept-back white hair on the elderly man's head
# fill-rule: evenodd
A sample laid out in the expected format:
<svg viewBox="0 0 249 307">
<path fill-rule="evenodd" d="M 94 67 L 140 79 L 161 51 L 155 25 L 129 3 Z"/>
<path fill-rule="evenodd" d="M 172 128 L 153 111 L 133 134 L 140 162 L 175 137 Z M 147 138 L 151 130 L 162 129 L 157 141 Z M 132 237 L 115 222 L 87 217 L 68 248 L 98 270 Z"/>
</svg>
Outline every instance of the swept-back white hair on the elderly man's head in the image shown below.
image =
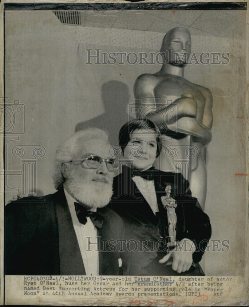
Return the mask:
<svg viewBox="0 0 249 307">
<path fill-rule="evenodd" d="M 53 184 L 59 190 L 65 182 L 65 177 L 61 172 L 61 165 L 64 162 L 72 161 L 75 155 L 84 146 L 84 143 L 90 140 L 98 140 L 108 143 L 108 134 L 98 128 L 88 128 L 74 133 L 62 144 L 60 144 L 55 153 Z"/>
</svg>

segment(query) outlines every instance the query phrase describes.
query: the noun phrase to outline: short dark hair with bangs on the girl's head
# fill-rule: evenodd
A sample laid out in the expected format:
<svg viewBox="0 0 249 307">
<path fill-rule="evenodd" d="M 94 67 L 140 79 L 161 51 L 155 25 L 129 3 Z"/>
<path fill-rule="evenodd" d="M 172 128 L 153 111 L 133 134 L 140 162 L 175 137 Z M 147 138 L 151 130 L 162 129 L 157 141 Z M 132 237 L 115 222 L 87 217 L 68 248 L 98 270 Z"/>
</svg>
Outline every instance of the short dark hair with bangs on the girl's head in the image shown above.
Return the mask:
<svg viewBox="0 0 249 307">
<path fill-rule="evenodd" d="M 118 142 L 123 154 L 126 145 L 130 141 L 130 134 L 137 129 L 154 130 L 156 132 L 156 157 L 158 157 L 162 151 L 161 133 L 158 127 L 148 119 L 133 119 L 122 126 L 118 134 Z"/>
</svg>

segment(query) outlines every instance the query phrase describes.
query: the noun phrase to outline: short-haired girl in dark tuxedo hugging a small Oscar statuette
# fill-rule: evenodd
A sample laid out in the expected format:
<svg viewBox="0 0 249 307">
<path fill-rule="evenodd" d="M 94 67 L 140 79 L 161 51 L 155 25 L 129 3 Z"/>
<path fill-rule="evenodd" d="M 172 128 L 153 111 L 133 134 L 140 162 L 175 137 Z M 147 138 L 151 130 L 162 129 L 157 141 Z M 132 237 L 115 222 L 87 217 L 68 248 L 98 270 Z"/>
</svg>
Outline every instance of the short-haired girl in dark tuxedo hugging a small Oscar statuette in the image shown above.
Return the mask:
<svg viewBox="0 0 249 307">
<path fill-rule="evenodd" d="M 134 119 L 121 128 L 119 145 L 124 156 L 122 173 L 114 178 L 110 206 L 125 225 L 128 260 L 124 275 L 204 275 L 199 265 L 192 266 L 192 261 L 201 260 L 210 239 L 209 218 L 191 196 L 182 174 L 152 167 L 162 149 L 159 129 L 149 120 Z M 174 204 L 175 208 L 177 221 L 173 223 L 173 232 L 169 231 L 172 223 L 168 220 L 166 203 Z M 169 233 L 175 233 L 174 239 L 184 243 L 185 249 L 170 251 Z M 206 243 L 198 250 L 201 240 Z M 165 264 L 169 258 L 173 260 L 172 266 Z"/>
</svg>

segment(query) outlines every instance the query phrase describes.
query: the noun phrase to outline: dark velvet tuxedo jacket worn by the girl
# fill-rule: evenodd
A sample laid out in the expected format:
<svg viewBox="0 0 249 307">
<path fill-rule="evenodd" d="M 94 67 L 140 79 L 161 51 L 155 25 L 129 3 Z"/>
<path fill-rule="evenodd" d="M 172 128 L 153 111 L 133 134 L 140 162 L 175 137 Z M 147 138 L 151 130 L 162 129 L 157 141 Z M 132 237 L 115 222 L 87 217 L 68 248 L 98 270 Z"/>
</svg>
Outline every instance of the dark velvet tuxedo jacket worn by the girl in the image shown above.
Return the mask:
<svg viewBox="0 0 249 307">
<path fill-rule="evenodd" d="M 168 237 L 167 210 L 164 209 L 161 196 L 165 196 L 165 187 L 171 185 L 171 197 L 176 200 L 176 240 L 188 238 L 196 245 L 193 262 L 198 263 L 211 237 L 211 225 L 208 216 L 202 211 L 197 199 L 192 197 L 188 181 L 181 173 L 153 171 L 159 214 L 154 215 L 150 205 L 132 180 L 131 171 L 123 167 L 123 172 L 114 178 L 114 194 L 109 207 L 116 211 L 125 225 L 125 239 L 131 240 L 129 265 L 124 275 L 176 275 L 170 266 L 158 263 L 165 253 L 160 253 L 160 239 Z M 143 240 L 146 240 L 143 242 Z M 135 241 L 135 242 L 134 242 Z M 146 243 L 148 242 L 148 243 Z M 138 243 L 138 246 L 135 246 Z M 152 246 L 157 244 L 156 246 Z M 143 246 L 142 246 L 143 245 Z M 153 251 L 151 251 L 153 250 Z M 189 275 L 201 275 L 203 271 L 196 265 L 196 271 Z M 184 275 L 181 273 L 180 275 Z"/>
</svg>

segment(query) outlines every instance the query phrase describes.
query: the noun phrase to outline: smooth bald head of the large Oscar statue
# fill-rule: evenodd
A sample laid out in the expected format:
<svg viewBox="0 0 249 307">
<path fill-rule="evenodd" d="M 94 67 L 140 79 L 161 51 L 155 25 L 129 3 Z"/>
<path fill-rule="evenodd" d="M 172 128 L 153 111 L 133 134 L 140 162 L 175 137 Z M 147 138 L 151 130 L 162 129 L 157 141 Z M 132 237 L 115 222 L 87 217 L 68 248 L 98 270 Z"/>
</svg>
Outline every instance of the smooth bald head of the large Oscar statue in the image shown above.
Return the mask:
<svg viewBox="0 0 249 307">
<path fill-rule="evenodd" d="M 176 27 L 164 36 L 160 50 L 168 64 L 185 65 L 191 53 L 191 36 L 188 29 Z"/>
</svg>

